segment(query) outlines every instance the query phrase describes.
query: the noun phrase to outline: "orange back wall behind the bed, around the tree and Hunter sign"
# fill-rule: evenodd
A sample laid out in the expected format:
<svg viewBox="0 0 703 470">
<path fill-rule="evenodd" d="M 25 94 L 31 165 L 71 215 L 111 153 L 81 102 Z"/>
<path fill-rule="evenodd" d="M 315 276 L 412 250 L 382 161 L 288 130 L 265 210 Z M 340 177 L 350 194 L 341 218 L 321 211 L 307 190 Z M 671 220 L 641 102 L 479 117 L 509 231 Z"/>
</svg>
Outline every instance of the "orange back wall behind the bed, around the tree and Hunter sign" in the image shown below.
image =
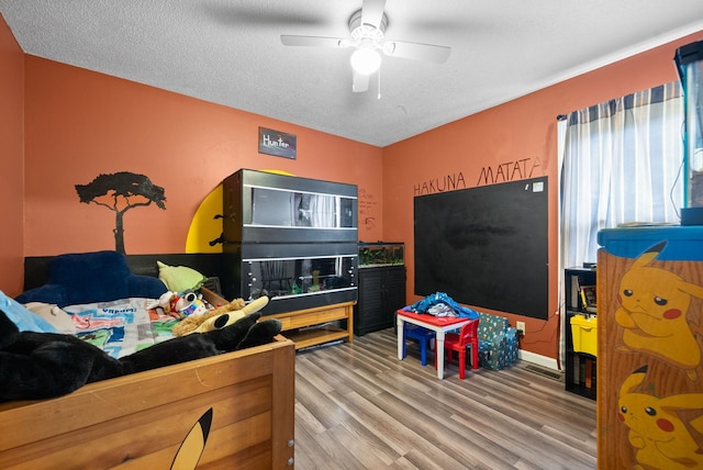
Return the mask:
<svg viewBox="0 0 703 470">
<path fill-rule="evenodd" d="M 114 249 L 114 212 L 80 203 L 75 184 L 100 174 L 146 175 L 166 210 L 125 213 L 127 254 L 182 253 L 200 202 L 239 168 L 358 184 L 382 209 L 379 147 L 26 56 L 24 255 Z M 298 137 L 298 158 L 258 154 L 258 127 Z M 359 236 L 377 239 L 381 226 Z"/>
</svg>

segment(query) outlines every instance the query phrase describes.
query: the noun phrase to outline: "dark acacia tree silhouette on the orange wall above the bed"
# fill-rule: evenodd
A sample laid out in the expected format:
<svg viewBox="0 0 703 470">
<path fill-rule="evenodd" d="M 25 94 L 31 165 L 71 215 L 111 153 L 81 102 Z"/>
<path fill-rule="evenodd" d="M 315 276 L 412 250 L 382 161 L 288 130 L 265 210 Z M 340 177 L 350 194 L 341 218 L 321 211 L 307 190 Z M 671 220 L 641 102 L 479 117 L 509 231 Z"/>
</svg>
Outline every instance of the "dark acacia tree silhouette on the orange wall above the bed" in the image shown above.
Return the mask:
<svg viewBox="0 0 703 470">
<path fill-rule="evenodd" d="M 144 175 L 120 171 L 111 175 L 99 175 L 88 184 L 76 184 L 80 202 L 94 203 L 114 211 L 115 250 L 124 254 L 124 213 L 132 208 L 150 205 L 166 210 L 164 188 L 152 183 Z"/>
</svg>

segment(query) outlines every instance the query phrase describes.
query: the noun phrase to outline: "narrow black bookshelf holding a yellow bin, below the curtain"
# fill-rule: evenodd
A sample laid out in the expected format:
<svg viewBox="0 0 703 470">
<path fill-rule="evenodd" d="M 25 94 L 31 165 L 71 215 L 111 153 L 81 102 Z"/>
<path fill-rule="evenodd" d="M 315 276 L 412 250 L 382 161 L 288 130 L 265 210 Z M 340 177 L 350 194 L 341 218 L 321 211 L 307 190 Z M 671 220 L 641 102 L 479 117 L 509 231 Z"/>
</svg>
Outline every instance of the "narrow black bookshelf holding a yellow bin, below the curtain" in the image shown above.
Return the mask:
<svg viewBox="0 0 703 470">
<path fill-rule="evenodd" d="M 568 392 L 595 400 L 595 269 L 565 270 L 565 387 Z M 572 318 L 576 325 L 572 326 Z M 591 325 L 593 325 L 591 327 Z M 579 335 L 574 338 L 574 331 Z M 576 345 L 576 347 L 574 347 Z"/>
</svg>

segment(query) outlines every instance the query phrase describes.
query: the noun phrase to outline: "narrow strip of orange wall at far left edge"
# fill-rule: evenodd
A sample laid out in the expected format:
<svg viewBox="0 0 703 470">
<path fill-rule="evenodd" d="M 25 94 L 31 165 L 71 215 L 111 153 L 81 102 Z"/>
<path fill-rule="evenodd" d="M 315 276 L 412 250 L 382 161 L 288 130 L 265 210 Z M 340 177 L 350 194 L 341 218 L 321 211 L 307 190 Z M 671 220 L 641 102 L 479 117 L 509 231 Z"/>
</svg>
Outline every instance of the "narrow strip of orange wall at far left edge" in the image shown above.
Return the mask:
<svg viewBox="0 0 703 470">
<path fill-rule="evenodd" d="M 22 292 L 24 237 L 23 102 L 24 55 L 0 15 L 0 290 Z"/>
</svg>

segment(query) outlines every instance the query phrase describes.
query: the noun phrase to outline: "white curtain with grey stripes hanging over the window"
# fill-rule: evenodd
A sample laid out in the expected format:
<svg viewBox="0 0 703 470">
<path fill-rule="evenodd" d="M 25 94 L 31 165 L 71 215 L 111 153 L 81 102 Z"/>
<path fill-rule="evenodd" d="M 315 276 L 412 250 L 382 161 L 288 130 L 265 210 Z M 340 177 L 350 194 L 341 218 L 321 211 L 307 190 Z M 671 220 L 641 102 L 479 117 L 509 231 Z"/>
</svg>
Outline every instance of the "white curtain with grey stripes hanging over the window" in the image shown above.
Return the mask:
<svg viewBox="0 0 703 470">
<path fill-rule="evenodd" d="M 679 222 L 682 132 L 678 81 L 567 116 L 561 268 L 595 261 L 601 228 Z"/>
</svg>

